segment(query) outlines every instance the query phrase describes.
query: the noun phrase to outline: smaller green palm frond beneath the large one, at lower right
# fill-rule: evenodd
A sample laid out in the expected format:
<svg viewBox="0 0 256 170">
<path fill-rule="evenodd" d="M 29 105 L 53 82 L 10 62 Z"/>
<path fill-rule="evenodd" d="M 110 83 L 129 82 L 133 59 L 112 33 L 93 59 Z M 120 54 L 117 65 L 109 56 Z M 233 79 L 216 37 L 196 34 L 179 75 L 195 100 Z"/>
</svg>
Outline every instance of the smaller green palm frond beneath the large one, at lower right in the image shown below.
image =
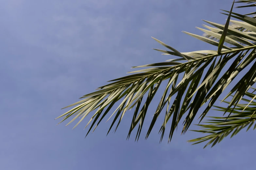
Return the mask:
<svg viewBox="0 0 256 170">
<path fill-rule="evenodd" d="M 227 110 L 227 108 L 225 107 L 215 106 L 215 110 L 217 111 L 227 111 L 230 113 L 232 112 L 232 114 L 229 117 L 210 117 L 212 118 L 211 120 L 207 120 L 206 122 L 204 122 L 207 124 L 198 125 L 201 126 L 202 130 L 193 130 L 195 132 L 207 133 L 209 135 L 189 140 L 189 142 L 194 142 L 194 144 L 198 144 L 201 142 L 209 141 L 205 145 L 205 147 L 212 143 L 213 147 L 217 142 L 219 143 L 224 137 L 227 137 L 229 134 L 231 134 L 231 132 L 233 133 L 231 134 L 230 138 L 247 126 L 248 131 L 256 120 L 256 94 L 246 92 L 245 95 L 251 97 L 251 100 L 242 98 L 242 100 L 246 101 L 247 104 L 233 104 L 233 106 L 235 106 L 234 109 L 229 108 Z M 230 102 L 224 102 L 230 104 Z M 253 130 L 255 128 L 256 124 L 254 125 Z"/>
</svg>

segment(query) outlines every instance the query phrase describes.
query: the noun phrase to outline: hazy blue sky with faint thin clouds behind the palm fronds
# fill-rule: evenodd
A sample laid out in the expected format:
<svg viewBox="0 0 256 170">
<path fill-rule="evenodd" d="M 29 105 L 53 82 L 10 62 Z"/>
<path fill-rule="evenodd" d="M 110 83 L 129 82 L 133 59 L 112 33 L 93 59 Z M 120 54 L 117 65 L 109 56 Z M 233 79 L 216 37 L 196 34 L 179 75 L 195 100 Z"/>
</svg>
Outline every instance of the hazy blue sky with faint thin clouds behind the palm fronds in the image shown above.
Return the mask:
<svg viewBox="0 0 256 170">
<path fill-rule="evenodd" d="M 65 127 L 67 122 L 56 126 L 61 119 L 54 120 L 67 111 L 62 107 L 125 76 L 131 66 L 171 59 L 151 49 L 164 50 L 151 36 L 181 52 L 217 50 L 181 31 L 202 35 L 195 28 L 201 19 L 225 23 L 227 17 L 219 9 L 230 10 L 231 0 L 0 2 L 0 169 L 255 169 L 252 130 L 203 149 L 205 143 L 187 143 L 202 135 L 179 135 L 180 125 L 170 144 L 168 132 L 159 144 L 160 118 L 144 140 L 157 97 L 138 143 L 136 132 L 126 140 L 132 111 L 107 137 L 111 122 L 103 121 L 84 139 L 89 117 L 74 130 L 76 122 Z M 251 9 L 234 12 L 246 10 Z"/>
</svg>

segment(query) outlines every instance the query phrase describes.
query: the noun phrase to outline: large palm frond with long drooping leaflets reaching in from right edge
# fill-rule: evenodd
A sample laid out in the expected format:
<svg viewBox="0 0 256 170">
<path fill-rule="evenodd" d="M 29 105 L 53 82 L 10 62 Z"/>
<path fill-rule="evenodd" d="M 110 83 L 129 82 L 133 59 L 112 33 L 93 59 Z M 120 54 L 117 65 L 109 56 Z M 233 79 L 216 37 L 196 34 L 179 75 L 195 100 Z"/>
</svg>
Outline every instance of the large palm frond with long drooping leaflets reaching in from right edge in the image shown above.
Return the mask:
<svg viewBox="0 0 256 170">
<path fill-rule="evenodd" d="M 252 5 L 251 2 L 246 1 L 246 3 Z M 247 67 L 247 73 L 235 84 L 226 96 L 227 98 L 234 93 L 228 107 L 224 109 L 224 112 L 230 112 L 231 114 L 240 106 L 238 103 L 256 81 L 256 19 L 232 12 L 233 5 L 230 11 L 224 11 L 224 14 L 228 15 L 225 25 L 203 20 L 208 24 L 203 25 L 207 29 L 198 28 L 204 33 L 218 39 L 219 42 L 184 31 L 184 33 L 196 39 L 216 46 L 216 50 L 179 52 L 173 47 L 153 38 L 166 48 L 166 50 L 154 50 L 175 58 L 162 63 L 133 67 L 145 68 L 129 72 L 133 74 L 111 80 L 109 84 L 99 87 L 96 92 L 82 96 L 81 101 L 70 105 L 75 106 L 74 108 L 58 118 L 63 117 L 62 122 L 74 116 L 68 124 L 80 118 L 75 125 L 76 127 L 89 113 L 94 111 L 94 114 L 92 114 L 91 119 L 86 125 L 87 127 L 91 123 L 89 133 L 90 131 L 94 131 L 99 123 L 108 115 L 108 120 L 112 119 L 109 133 L 114 125 L 114 131 L 116 131 L 128 109 L 134 108 L 127 138 L 130 137 L 134 128 L 138 127 L 135 139 L 138 140 L 148 106 L 162 82 L 167 81 L 167 86 L 164 87 L 165 90 L 153 115 L 145 138 L 148 138 L 160 113 L 163 112 L 165 116 L 159 131 L 161 133 L 160 141 L 162 141 L 167 128 L 166 124 L 169 120 L 171 121 L 171 126 L 168 141 L 170 141 L 174 130 L 177 128 L 184 114 L 185 120 L 183 122 L 182 134 L 188 130 L 199 108 L 206 103 L 208 104 L 199 116 L 201 121 L 220 94 Z M 230 20 L 231 17 L 235 20 Z M 229 25 L 230 22 L 243 27 L 247 31 L 233 28 Z M 224 42 L 230 44 L 230 47 L 224 45 Z M 229 61 L 232 61 L 232 63 L 227 64 Z M 253 64 L 249 65 L 251 63 Z M 221 74 L 225 66 L 228 67 L 228 70 L 224 74 Z M 115 110 L 109 113 L 116 103 L 118 106 L 114 107 Z M 246 109 L 249 108 L 247 107 Z M 228 116 L 227 121 L 233 118 L 232 116 L 234 115 Z M 207 129 L 206 131 L 208 132 L 209 130 Z"/>
</svg>

